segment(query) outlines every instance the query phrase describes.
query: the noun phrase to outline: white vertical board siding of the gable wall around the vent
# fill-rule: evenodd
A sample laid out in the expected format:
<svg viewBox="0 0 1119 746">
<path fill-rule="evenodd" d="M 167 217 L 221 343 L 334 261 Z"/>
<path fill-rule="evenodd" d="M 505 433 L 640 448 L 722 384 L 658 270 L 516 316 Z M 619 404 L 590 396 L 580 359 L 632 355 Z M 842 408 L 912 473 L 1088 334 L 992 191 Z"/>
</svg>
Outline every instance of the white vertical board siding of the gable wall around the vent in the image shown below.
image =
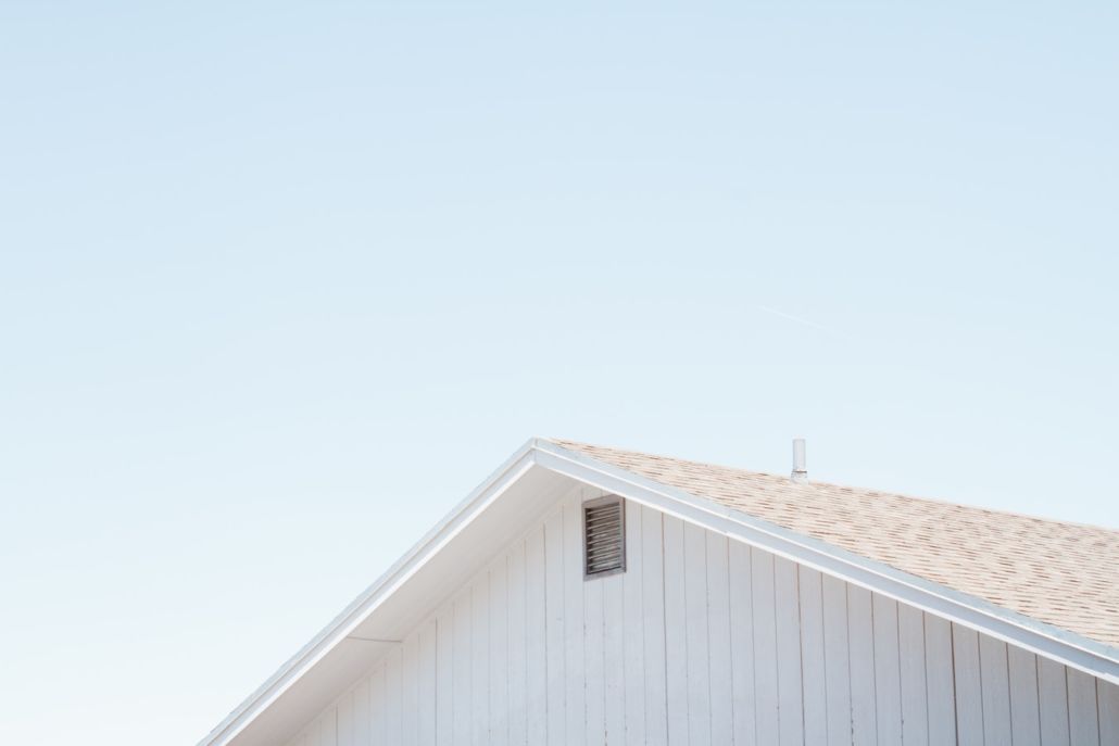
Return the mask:
<svg viewBox="0 0 1119 746">
<path fill-rule="evenodd" d="M 630 503 L 584 580 L 573 492 L 289 746 L 1110 746 L 1119 687 Z M 495 548 L 497 549 L 497 548 Z"/>
</svg>

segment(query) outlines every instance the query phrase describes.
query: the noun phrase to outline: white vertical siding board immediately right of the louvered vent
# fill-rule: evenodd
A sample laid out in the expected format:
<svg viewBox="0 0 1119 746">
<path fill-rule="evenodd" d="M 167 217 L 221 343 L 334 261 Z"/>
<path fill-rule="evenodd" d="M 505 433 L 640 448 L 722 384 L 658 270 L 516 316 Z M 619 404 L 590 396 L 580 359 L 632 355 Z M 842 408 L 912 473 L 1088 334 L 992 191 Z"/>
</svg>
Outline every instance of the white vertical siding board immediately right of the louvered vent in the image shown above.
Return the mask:
<svg viewBox="0 0 1119 746">
<path fill-rule="evenodd" d="M 641 556 L 641 506 L 627 500 L 626 553 Z M 641 607 L 641 563 L 627 563 L 624 595 L 626 743 L 640 746 L 645 737 L 645 613 Z"/>
</svg>

